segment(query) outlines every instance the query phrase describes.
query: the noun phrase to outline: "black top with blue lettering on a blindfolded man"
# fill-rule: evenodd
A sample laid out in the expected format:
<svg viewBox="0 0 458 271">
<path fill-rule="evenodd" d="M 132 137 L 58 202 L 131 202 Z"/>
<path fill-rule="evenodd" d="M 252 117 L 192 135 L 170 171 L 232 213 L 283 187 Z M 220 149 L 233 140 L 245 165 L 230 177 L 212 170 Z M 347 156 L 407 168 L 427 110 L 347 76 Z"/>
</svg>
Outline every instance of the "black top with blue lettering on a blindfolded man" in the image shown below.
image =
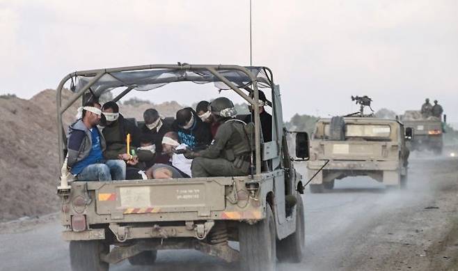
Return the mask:
<svg viewBox="0 0 458 271">
<path fill-rule="evenodd" d="M 194 115 L 194 125 L 189 130 L 184 130 L 180 127 L 176 120 L 172 124 L 172 129 L 178 133 L 180 143 L 186 144 L 189 148 L 195 150 L 206 148 L 212 143 L 210 123 L 204 123 L 194 109 L 191 109 L 191 111 Z"/>
</svg>

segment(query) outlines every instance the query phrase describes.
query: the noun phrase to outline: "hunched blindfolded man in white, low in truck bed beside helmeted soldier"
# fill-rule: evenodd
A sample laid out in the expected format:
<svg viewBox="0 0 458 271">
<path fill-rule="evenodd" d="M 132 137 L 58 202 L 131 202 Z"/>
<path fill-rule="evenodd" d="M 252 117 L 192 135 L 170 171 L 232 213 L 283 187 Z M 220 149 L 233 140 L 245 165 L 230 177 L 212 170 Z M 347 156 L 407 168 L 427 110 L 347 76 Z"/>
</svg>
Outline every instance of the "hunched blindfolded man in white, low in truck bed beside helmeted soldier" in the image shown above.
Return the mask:
<svg viewBox="0 0 458 271">
<path fill-rule="evenodd" d="M 162 138 L 162 150 L 168 155 L 168 164 L 155 164 L 145 173 L 150 179 L 171 179 L 191 177 L 192 160 L 184 157 L 179 150 L 187 149 L 186 144 L 179 142 L 176 132 L 167 132 Z"/>
</svg>

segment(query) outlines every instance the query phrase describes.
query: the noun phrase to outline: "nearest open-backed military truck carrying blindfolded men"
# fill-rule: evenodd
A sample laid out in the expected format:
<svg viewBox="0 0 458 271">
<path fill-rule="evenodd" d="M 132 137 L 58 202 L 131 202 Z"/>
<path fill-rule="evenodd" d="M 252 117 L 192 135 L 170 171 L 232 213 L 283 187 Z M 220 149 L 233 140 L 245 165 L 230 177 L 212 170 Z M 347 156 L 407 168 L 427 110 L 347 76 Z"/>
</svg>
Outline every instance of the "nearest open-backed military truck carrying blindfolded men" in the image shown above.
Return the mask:
<svg viewBox="0 0 458 271">
<path fill-rule="evenodd" d="M 62 89 L 71 81 L 72 98 Z M 115 88 L 118 101 L 132 91 L 173 82 L 212 83 L 253 106 L 254 149 L 248 176 L 71 181 L 61 178 L 63 239 L 70 241 L 73 271 L 109 270 L 125 259 L 153 265 L 161 249 L 198 249 L 242 270 L 274 270 L 279 261 L 299 262 L 304 249 L 302 176 L 294 169 L 283 127 L 281 94 L 266 67 L 238 65 L 141 65 L 72 72 L 57 88 L 58 150 L 65 160 L 62 114 L 82 95 L 95 98 Z M 272 141 L 260 130 L 259 90 L 271 93 Z M 254 99 L 249 94 L 253 93 Z M 308 157 L 308 135 L 296 133 L 296 156 Z M 228 245 L 239 242 L 239 250 Z M 111 247 L 111 249 L 110 249 Z"/>
</svg>

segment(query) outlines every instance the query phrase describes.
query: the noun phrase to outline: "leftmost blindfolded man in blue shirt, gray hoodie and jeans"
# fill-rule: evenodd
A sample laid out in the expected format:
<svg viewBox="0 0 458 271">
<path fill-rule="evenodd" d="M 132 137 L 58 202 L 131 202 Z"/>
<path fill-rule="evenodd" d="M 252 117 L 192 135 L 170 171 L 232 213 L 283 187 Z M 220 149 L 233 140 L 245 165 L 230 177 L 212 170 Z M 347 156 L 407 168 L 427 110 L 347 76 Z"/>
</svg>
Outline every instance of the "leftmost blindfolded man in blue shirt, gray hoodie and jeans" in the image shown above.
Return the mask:
<svg viewBox="0 0 458 271">
<path fill-rule="evenodd" d="M 106 143 L 97 128 L 102 111 L 98 102 L 79 109 L 81 118 L 69 127 L 67 166 L 77 180 L 125 180 L 123 160 L 104 160 Z"/>
</svg>

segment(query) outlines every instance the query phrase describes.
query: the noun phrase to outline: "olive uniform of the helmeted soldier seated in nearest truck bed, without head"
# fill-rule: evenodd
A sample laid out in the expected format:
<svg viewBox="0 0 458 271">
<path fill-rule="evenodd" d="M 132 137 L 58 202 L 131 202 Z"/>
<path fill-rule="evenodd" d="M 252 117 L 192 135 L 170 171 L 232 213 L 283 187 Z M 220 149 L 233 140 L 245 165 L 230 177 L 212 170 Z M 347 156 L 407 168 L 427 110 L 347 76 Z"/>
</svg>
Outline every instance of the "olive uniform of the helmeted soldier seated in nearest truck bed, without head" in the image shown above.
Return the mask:
<svg viewBox="0 0 458 271">
<path fill-rule="evenodd" d="M 230 119 L 221 124 L 214 144 L 196 154 L 193 177 L 246 176 L 250 170 L 254 127 Z"/>
</svg>

